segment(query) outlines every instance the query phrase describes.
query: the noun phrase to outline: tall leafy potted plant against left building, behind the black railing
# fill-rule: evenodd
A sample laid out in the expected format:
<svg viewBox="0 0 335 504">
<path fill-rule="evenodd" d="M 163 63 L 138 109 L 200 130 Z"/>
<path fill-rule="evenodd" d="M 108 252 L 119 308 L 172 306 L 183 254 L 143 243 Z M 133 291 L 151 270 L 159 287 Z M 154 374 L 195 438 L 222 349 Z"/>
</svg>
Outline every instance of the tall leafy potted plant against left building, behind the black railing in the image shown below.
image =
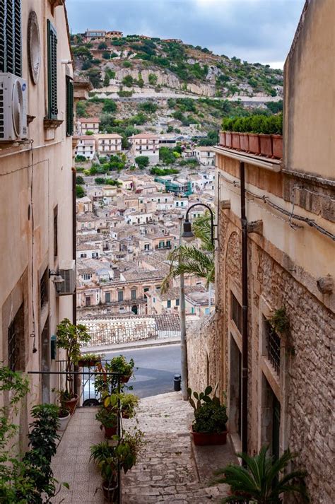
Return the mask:
<svg viewBox="0 0 335 504">
<path fill-rule="evenodd" d="M 71 324 L 69 319 L 64 319 L 57 325 L 57 346 L 66 350 L 66 388 L 62 392 L 61 402 L 70 409 L 71 414 L 74 413 L 78 402 L 78 394 L 74 393 L 74 377 L 71 371 L 73 371 L 73 365 L 78 364 L 81 344 L 88 341 L 90 341 L 90 334 L 86 326 Z"/>
</svg>

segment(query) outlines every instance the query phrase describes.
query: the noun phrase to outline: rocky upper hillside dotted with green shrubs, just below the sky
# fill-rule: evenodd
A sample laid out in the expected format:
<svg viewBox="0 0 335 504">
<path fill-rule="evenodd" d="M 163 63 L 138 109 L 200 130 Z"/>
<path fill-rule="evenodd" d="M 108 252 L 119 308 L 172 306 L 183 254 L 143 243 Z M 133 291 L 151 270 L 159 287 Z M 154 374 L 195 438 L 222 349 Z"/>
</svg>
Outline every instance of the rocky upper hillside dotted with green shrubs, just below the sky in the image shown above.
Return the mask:
<svg viewBox="0 0 335 504">
<path fill-rule="evenodd" d="M 279 100 L 283 72 L 199 46 L 128 35 L 83 42 L 72 35 L 76 74 L 111 98 L 175 94 L 243 100 Z"/>
</svg>

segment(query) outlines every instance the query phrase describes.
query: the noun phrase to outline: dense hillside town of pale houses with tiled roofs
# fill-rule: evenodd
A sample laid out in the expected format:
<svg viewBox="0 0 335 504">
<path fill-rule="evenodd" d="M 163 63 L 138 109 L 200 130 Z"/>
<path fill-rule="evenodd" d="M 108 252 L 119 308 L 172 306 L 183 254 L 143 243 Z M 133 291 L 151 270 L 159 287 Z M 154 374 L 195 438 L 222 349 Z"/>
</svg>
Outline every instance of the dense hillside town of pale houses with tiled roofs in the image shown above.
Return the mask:
<svg viewBox="0 0 335 504">
<path fill-rule="evenodd" d="M 78 166 L 88 168 L 110 156 L 125 156 L 136 168 L 118 172 L 114 186 L 104 184 L 104 177 L 96 184 L 91 175 L 83 176 L 86 194 L 76 202 L 79 317 L 178 312 L 178 279 L 165 293 L 160 286 L 169 271 L 168 254 L 180 244 L 181 221 L 189 207 L 194 206 L 191 219 L 204 213 L 204 206 L 197 203 L 213 208 L 213 151 L 184 136 L 146 132 L 131 136 L 130 148 L 124 150 L 121 136 L 99 131 L 98 118 L 79 118 L 77 127 Z M 135 167 L 138 156 L 147 158 L 150 167 L 160 162 L 160 149 L 173 153 L 177 146 L 180 153 L 175 152 L 186 160 L 177 174 L 151 175 Z M 162 163 L 160 170 L 169 168 Z M 214 291 L 208 293 L 204 279 L 187 276 L 185 295 L 187 321 L 199 320 L 213 309 Z"/>
</svg>

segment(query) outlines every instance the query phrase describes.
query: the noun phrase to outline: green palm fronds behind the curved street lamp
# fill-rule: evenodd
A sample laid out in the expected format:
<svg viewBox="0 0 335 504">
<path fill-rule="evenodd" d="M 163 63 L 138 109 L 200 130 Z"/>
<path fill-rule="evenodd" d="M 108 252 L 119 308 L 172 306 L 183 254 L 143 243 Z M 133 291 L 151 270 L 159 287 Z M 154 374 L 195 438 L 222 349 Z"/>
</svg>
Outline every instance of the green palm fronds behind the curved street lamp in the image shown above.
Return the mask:
<svg viewBox="0 0 335 504">
<path fill-rule="evenodd" d="M 196 275 L 206 280 L 206 287 L 215 279 L 214 245 L 211 242 L 211 216 L 208 212 L 194 219 L 192 230 L 200 240 L 200 247 L 196 245 L 180 245 L 168 254 L 170 271 L 163 280 L 161 290 L 166 292 L 170 281 L 180 274 Z"/>
</svg>

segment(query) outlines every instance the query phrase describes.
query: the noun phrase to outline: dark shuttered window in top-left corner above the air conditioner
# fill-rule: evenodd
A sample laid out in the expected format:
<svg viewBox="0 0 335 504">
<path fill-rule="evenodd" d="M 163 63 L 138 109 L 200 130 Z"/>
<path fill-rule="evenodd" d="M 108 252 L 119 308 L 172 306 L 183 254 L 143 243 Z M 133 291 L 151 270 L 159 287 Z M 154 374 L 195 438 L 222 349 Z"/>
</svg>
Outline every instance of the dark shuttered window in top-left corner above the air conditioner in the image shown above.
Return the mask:
<svg viewBox="0 0 335 504">
<path fill-rule="evenodd" d="M 0 71 L 22 76 L 21 0 L 0 2 Z"/>
</svg>

